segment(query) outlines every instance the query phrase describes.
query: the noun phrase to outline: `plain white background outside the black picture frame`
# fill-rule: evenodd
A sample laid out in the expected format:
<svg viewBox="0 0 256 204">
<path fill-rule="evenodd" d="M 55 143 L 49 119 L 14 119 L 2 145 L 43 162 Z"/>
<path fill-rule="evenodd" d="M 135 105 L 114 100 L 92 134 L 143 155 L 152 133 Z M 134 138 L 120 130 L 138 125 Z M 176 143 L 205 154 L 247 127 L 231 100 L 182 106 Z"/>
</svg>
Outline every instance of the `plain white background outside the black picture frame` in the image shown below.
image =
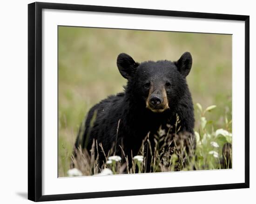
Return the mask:
<svg viewBox="0 0 256 204">
<path fill-rule="evenodd" d="M 41 0 L 44 1 L 44 0 Z M 2 1 L 0 6 L 0 202 L 27 201 L 27 4 L 30 0 Z M 47 0 L 56 3 L 139 7 L 207 13 L 250 15 L 250 189 L 58 201 L 59 203 L 253 203 L 256 192 L 256 151 L 253 130 L 256 119 L 256 13 L 254 1 L 138 1 Z M 164 182 L 164 181 L 163 181 Z M 49 202 L 53 203 L 53 202 Z M 57 202 L 55 202 L 57 203 Z"/>
</svg>

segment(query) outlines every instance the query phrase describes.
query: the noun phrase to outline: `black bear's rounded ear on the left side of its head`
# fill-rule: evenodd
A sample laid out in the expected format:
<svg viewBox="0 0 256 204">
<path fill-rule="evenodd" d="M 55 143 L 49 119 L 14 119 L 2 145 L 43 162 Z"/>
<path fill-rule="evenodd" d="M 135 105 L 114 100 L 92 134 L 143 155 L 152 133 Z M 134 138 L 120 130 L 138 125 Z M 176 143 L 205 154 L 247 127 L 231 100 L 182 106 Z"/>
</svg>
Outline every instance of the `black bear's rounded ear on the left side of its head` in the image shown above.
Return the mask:
<svg viewBox="0 0 256 204">
<path fill-rule="evenodd" d="M 133 76 L 139 63 L 136 63 L 131 56 L 126 53 L 121 53 L 118 55 L 116 60 L 119 72 L 125 79 L 129 79 Z"/>
</svg>

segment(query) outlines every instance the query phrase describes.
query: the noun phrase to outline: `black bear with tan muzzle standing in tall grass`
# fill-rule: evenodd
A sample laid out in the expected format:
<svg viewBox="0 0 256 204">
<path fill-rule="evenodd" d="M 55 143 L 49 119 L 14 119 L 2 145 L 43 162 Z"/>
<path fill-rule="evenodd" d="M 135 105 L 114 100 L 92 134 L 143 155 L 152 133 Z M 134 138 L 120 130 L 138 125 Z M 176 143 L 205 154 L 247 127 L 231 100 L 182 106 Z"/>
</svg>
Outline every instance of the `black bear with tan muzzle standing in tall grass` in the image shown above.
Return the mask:
<svg viewBox="0 0 256 204">
<path fill-rule="evenodd" d="M 161 128 L 165 135 L 186 132 L 183 134 L 185 150 L 195 149 L 191 142 L 194 139 L 194 108 L 186 81 L 191 66 L 189 52 L 183 53 L 177 61 L 142 63 L 135 62 L 126 53 L 119 54 L 117 67 L 128 80 L 124 92 L 109 96 L 90 109 L 85 124 L 80 127 L 75 148 L 81 145 L 89 151 L 96 139 L 106 154 L 114 149 L 115 155 L 121 156 L 124 152 L 132 159 L 132 155 L 140 151 L 145 137 L 148 136 L 154 148 L 154 134 Z M 176 127 L 177 118 L 179 127 Z M 104 159 L 101 154 L 100 161 Z M 150 172 L 151 159 L 148 161 L 147 172 Z"/>
</svg>

